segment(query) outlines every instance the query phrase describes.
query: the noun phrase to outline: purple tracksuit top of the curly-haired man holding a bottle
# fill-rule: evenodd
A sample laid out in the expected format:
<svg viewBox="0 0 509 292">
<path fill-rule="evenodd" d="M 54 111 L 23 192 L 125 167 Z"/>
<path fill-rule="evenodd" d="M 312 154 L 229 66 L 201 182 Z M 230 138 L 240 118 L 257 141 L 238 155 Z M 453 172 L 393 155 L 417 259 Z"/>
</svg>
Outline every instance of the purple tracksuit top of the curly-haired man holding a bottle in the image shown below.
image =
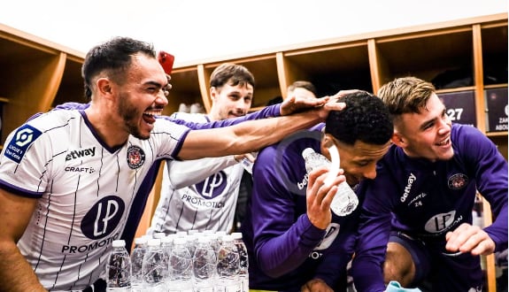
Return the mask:
<svg viewBox="0 0 509 292">
<path fill-rule="evenodd" d="M 308 280 L 324 280 L 336 291 L 355 244 L 359 212 L 333 213 L 327 230 L 306 215 L 307 174 L 302 151 L 320 153 L 320 124 L 258 153 L 253 190 L 243 222 L 250 259 L 250 288 L 300 291 Z"/>
</svg>

